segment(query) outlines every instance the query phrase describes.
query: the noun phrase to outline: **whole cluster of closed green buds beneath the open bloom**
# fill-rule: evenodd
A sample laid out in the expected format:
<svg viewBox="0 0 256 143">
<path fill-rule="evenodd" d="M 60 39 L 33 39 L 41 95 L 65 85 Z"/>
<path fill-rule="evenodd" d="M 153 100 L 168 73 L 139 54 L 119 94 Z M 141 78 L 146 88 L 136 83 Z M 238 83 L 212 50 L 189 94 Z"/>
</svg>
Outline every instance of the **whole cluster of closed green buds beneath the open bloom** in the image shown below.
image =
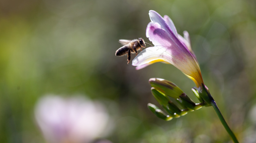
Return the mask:
<svg viewBox="0 0 256 143">
<path fill-rule="evenodd" d="M 192 91 L 200 103 L 192 101 L 177 85 L 165 79 L 151 78 L 149 79 L 149 84 L 152 87 L 152 94 L 167 114 L 152 103 L 148 103 L 148 108 L 157 117 L 166 121 L 173 118 L 179 118 L 180 116 L 198 110 L 203 106 L 211 106 L 198 94 L 198 89 L 196 87 L 193 87 Z"/>
</svg>

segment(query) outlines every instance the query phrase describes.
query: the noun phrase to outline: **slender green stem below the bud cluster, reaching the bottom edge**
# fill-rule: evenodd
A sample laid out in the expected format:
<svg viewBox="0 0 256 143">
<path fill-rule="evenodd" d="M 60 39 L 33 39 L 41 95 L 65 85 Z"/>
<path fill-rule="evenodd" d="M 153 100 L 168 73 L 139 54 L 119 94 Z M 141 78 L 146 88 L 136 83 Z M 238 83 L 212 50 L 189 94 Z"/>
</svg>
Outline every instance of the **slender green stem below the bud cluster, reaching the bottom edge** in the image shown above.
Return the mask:
<svg viewBox="0 0 256 143">
<path fill-rule="evenodd" d="M 231 131 L 229 126 L 227 125 L 227 122 L 225 121 L 224 117 L 221 114 L 221 111 L 219 107 L 217 106 L 216 102 L 214 100 L 211 101 L 211 105 L 213 106 L 215 112 L 217 113 L 219 119 L 221 120 L 221 123 L 223 124 L 224 128 L 226 129 L 227 133 L 231 136 L 233 139 L 234 143 L 239 143 L 235 134 Z"/>
</svg>

